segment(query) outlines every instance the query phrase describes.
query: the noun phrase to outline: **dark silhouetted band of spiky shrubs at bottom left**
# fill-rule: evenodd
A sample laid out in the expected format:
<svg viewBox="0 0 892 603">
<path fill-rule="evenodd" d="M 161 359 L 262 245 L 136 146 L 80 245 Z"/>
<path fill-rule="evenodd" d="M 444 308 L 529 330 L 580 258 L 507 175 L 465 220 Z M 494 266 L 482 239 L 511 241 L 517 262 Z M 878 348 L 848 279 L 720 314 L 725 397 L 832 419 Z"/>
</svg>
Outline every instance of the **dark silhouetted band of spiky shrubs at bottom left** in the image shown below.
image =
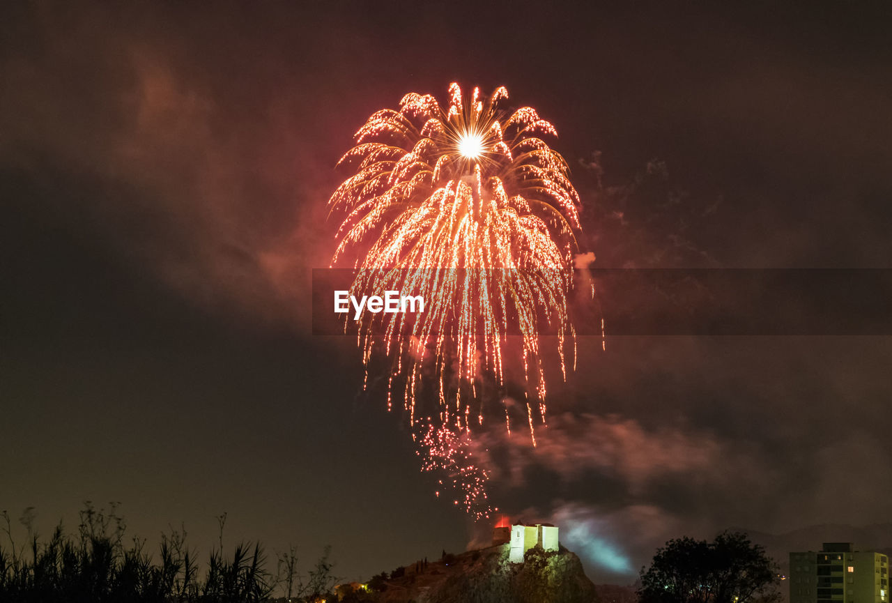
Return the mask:
<svg viewBox="0 0 892 603">
<path fill-rule="evenodd" d="M 0 546 L 0 600 L 4 602 L 242 603 L 271 600 L 280 583 L 267 571 L 260 544 L 240 543 L 227 556 L 222 551 L 222 534 L 221 549 L 211 550 L 203 572 L 194 549 L 186 545 L 185 530 L 163 534 L 157 557 L 138 538 L 125 546 L 126 524 L 117 514 L 117 505 L 96 509 L 87 501 L 79 514 L 78 532 L 69 535 L 60 524 L 47 541 L 32 530 L 33 509 L 26 509 L 20 521 L 28 528 L 29 540 L 18 546 L 9 514 L 3 511 L 0 517 L 9 543 L 8 548 Z M 334 582 L 327 555 L 326 549 L 310 572 L 314 591 Z M 293 579 L 293 565 L 291 570 Z"/>
</svg>

